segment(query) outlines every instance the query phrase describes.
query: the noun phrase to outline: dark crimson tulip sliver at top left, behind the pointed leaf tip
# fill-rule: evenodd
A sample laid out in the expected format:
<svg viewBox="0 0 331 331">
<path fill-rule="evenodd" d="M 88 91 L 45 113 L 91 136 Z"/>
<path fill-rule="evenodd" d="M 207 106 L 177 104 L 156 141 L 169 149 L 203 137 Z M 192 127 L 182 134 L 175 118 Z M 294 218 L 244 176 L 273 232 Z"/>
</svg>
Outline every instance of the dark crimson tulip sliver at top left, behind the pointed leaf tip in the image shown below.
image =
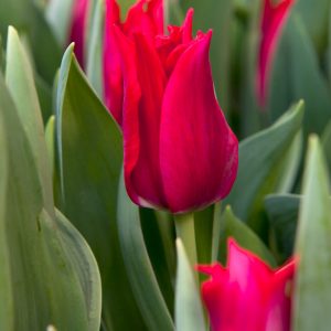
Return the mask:
<svg viewBox="0 0 331 331">
<path fill-rule="evenodd" d="M 74 0 L 71 29 L 70 29 L 70 42 L 75 43 L 75 55 L 81 66 L 85 64 L 85 31 L 87 21 L 88 0 Z"/>
</svg>

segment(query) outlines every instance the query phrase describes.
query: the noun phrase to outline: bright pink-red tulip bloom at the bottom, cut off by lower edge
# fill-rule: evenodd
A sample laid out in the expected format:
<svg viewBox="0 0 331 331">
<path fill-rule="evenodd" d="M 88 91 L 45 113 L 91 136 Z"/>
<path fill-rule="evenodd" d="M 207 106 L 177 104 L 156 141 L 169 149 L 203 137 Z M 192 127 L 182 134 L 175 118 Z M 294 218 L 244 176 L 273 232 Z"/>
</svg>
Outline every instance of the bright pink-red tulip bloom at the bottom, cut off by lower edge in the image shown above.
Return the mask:
<svg viewBox="0 0 331 331">
<path fill-rule="evenodd" d="M 211 278 L 202 297 L 213 331 L 289 331 L 295 260 L 273 270 L 229 239 L 226 268 L 199 266 Z"/>
</svg>

